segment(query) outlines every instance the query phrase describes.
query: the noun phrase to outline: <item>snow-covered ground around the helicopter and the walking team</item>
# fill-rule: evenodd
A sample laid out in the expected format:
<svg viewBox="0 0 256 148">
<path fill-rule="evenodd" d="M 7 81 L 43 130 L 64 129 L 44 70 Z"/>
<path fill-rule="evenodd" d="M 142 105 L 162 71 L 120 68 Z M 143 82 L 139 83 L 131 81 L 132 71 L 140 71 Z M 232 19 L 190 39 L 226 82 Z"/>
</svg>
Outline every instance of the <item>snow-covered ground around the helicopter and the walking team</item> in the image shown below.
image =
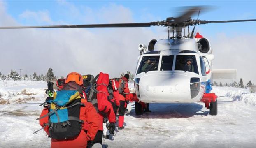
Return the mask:
<svg viewBox="0 0 256 148">
<path fill-rule="evenodd" d="M 50 147 L 38 121 L 47 83 L 0 81 L 0 147 Z M 210 116 L 203 103 L 150 104 L 152 113 L 135 116 L 128 105 L 125 128 L 114 140 L 103 139 L 109 148 L 254 148 L 256 145 L 256 94 L 249 90 L 214 87 L 218 115 Z M 22 100 L 22 101 L 19 101 Z M 117 130 L 116 130 L 117 131 Z"/>
</svg>

